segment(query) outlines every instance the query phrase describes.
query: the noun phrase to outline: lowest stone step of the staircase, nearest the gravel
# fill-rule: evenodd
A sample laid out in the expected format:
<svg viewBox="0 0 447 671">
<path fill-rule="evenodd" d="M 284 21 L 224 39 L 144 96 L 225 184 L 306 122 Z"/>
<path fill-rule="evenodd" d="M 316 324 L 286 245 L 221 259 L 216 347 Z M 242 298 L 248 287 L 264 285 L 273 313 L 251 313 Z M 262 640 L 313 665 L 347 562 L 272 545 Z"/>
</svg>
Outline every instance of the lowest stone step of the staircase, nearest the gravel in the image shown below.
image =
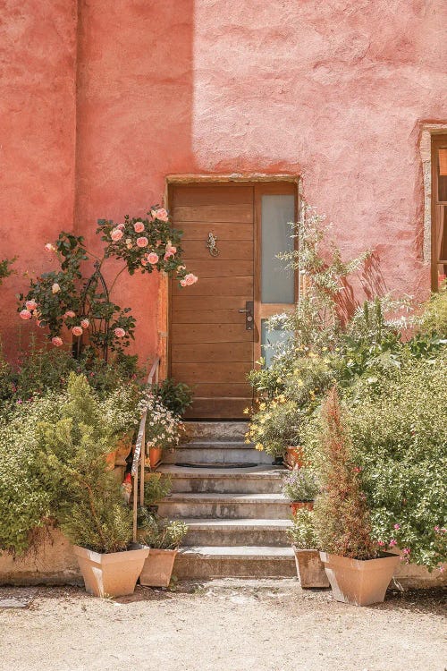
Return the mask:
<svg viewBox="0 0 447 671">
<path fill-rule="evenodd" d="M 291 546 L 193 546 L 181 548 L 173 573 L 180 580 L 279 578 L 296 576 L 296 567 Z"/>
</svg>

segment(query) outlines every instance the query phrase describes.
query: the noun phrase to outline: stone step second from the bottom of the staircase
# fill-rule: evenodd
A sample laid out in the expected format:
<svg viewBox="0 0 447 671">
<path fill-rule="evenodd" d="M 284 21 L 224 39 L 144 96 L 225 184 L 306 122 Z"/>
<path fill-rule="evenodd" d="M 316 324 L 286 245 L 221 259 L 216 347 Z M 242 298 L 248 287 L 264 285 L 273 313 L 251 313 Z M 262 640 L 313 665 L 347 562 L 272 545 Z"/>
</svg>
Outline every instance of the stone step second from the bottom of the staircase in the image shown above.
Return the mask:
<svg viewBox="0 0 447 671">
<path fill-rule="evenodd" d="M 186 518 L 188 534 L 184 545 L 192 546 L 285 546 L 291 520 L 225 520 Z"/>
</svg>

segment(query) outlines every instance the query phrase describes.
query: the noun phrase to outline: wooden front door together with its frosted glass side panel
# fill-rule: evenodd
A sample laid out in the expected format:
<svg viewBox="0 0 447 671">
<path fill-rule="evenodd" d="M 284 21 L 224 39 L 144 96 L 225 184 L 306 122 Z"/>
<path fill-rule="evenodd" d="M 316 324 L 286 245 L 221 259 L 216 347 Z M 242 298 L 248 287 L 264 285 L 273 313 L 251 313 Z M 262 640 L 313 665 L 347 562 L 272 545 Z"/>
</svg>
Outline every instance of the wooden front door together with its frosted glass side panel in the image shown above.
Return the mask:
<svg viewBox="0 0 447 671">
<path fill-rule="evenodd" d="M 266 319 L 292 310 L 296 278 L 277 259 L 293 248 L 296 183 L 172 185 L 169 208 L 183 258 L 198 276 L 170 302 L 170 375 L 194 391 L 187 416 L 240 419 L 252 402 L 247 374 L 268 343 Z M 245 311 L 249 310 L 249 312 Z"/>
</svg>

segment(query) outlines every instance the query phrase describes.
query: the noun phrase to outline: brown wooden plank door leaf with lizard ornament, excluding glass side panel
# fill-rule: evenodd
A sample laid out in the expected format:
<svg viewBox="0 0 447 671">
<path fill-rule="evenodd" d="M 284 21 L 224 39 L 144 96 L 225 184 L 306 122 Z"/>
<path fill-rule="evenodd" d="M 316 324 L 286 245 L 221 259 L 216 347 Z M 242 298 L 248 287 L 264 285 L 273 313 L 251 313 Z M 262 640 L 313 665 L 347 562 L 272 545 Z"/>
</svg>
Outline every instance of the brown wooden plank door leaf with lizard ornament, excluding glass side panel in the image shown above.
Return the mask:
<svg viewBox="0 0 447 671">
<path fill-rule="evenodd" d="M 170 208 L 198 276 L 193 286 L 172 282 L 171 376 L 194 391 L 190 417 L 237 419 L 252 400 L 255 331 L 240 310 L 254 300 L 254 188 L 174 186 Z"/>
</svg>

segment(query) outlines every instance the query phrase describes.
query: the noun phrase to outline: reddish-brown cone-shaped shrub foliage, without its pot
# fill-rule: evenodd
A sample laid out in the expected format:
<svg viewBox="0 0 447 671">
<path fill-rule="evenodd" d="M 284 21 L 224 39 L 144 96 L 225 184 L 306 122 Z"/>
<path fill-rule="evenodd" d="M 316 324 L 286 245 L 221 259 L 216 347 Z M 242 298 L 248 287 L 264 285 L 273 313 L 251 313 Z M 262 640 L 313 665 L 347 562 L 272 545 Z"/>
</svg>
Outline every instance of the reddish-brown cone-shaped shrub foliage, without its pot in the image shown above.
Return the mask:
<svg viewBox="0 0 447 671">
<path fill-rule="evenodd" d="M 377 548 L 367 497 L 353 460 L 349 438 L 333 387 L 324 406 L 321 446 L 325 456 L 323 491 L 316 498 L 315 527 L 319 546 L 333 555 L 372 559 Z"/>
</svg>

